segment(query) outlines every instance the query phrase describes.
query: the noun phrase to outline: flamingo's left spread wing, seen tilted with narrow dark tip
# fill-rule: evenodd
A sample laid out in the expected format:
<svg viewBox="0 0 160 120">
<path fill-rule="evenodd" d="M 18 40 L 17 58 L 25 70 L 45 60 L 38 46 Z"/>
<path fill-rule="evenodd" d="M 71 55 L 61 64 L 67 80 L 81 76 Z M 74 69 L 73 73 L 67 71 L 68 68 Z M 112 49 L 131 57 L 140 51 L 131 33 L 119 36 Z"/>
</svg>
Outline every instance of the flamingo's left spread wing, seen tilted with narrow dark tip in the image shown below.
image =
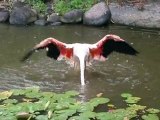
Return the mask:
<svg viewBox="0 0 160 120">
<path fill-rule="evenodd" d="M 73 48 L 68 48 L 66 43 L 60 42 L 54 38 L 47 38 L 27 52 L 22 58 L 22 61 L 28 59 L 36 50 L 41 49 L 46 49 L 47 56 L 55 60 L 57 60 L 59 57 L 70 59 L 73 55 Z"/>
</svg>

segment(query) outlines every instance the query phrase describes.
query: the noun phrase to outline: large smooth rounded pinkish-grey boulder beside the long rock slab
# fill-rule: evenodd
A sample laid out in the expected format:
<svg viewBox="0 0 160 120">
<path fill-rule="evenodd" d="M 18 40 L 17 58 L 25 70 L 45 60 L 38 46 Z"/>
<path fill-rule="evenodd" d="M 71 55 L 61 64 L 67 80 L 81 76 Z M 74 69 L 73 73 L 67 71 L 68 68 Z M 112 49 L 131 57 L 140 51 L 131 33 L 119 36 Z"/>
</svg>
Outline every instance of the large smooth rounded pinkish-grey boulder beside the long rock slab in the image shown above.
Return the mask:
<svg viewBox="0 0 160 120">
<path fill-rule="evenodd" d="M 111 12 L 105 2 L 95 4 L 83 16 L 83 24 L 102 26 L 110 21 Z"/>
</svg>

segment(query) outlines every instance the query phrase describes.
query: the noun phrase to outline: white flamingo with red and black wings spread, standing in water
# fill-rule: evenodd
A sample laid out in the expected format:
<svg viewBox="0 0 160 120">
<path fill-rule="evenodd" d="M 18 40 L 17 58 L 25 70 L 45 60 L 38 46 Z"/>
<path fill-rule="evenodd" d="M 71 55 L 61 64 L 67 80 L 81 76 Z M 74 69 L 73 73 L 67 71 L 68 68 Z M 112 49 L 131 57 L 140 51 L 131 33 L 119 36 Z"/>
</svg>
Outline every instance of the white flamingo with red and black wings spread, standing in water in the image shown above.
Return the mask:
<svg viewBox="0 0 160 120">
<path fill-rule="evenodd" d="M 85 85 L 84 71 L 92 60 L 105 61 L 112 52 L 136 55 L 138 52 L 117 35 L 108 34 L 95 44 L 66 44 L 55 38 L 46 38 L 28 51 L 21 61 L 27 60 L 35 51 L 46 49 L 47 56 L 55 60 L 72 61 L 80 69 L 81 85 Z M 77 67 L 78 66 L 78 67 Z"/>
</svg>

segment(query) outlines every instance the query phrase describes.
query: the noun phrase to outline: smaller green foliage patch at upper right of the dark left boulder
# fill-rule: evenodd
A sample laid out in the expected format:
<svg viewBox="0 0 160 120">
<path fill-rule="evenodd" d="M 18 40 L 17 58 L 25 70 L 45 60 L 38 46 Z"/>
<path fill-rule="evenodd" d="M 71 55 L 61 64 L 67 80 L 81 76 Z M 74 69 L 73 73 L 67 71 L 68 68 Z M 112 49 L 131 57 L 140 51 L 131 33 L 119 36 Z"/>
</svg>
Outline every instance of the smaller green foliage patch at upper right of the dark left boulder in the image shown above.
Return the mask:
<svg viewBox="0 0 160 120">
<path fill-rule="evenodd" d="M 47 6 L 42 0 L 25 0 L 26 3 L 30 4 L 34 9 L 40 13 L 45 13 Z"/>
</svg>

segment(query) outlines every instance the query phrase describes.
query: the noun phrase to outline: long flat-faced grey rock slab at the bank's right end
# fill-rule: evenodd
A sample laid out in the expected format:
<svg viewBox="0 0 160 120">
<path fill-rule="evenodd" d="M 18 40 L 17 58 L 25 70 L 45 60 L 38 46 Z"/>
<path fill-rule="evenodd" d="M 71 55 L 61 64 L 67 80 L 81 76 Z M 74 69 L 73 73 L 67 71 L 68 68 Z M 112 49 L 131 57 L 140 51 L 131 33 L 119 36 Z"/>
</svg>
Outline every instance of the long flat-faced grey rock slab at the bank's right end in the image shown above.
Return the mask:
<svg viewBox="0 0 160 120">
<path fill-rule="evenodd" d="M 119 6 L 116 3 L 110 4 L 112 20 L 114 23 L 145 27 L 160 28 L 160 2 L 151 2 L 143 6 L 143 10 L 138 10 L 136 6 Z"/>
</svg>

